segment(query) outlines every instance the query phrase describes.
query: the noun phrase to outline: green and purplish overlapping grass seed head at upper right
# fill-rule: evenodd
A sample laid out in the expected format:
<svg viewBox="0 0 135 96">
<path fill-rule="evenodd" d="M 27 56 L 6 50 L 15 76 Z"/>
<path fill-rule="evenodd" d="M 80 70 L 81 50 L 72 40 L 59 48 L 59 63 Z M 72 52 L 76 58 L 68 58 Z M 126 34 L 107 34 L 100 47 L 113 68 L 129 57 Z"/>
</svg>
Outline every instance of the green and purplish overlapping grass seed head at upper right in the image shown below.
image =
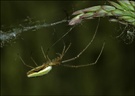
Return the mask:
<svg viewBox="0 0 135 96">
<path fill-rule="evenodd" d="M 117 3 L 109 1 L 111 5 L 97 5 L 89 8 L 75 11 L 73 15 L 76 15 L 69 25 L 79 23 L 79 21 L 85 19 L 93 19 L 95 17 L 112 17 L 115 21 L 119 21 L 122 24 L 130 24 L 135 26 L 135 2 L 134 1 L 118 1 Z"/>
</svg>

